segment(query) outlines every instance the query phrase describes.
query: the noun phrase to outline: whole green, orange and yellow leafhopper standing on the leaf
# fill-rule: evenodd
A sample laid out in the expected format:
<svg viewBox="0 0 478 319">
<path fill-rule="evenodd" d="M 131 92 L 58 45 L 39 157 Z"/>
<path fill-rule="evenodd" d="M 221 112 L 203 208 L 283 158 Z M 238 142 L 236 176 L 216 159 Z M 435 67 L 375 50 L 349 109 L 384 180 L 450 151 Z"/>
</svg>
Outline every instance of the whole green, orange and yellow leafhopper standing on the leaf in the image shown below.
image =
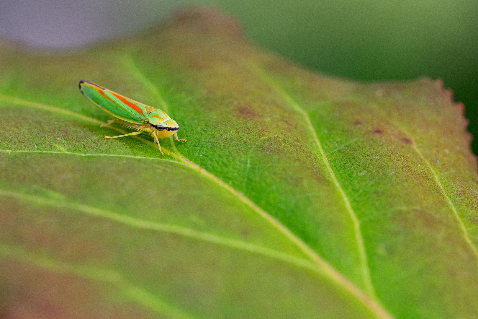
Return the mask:
<svg viewBox="0 0 478 319">
<path fill-rule="evenodd" d="M 154 142 L 158 143 L 159 151 L 163 156 L 164 153 L 161 151 L 161 144 L 159 143 L 160 138 L 169 137 L 174 134 L 176 141 L 187 141 L 186 139 L 178 138 L 178 123 L 162 110 L 152 108 L 146 104 L 122 96 L 88 80 L 81 80 L 79 87 L 81 93 L 83 93 L 87 99 L 116 118 L 107 121 L 106 124 L 101 124 L 100 127 L 120 123 L 125 127 L 137 131 L 118 136 L 105 136 L 103 139 L 106 140 L 108 138 L 118 138 L 149 132 Z"/>
</svg>

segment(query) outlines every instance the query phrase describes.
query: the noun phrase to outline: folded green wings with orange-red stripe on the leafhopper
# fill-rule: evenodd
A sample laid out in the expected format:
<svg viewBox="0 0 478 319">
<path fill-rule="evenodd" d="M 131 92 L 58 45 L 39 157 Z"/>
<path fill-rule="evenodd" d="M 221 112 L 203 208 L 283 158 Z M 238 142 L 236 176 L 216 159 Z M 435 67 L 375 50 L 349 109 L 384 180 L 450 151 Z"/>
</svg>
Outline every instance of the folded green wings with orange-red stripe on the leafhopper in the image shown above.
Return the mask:
<svg viewBox="0 0 478 319">
<path fill-rule="evenodd" d="M 80 91 L 105 112 L 130 123 L 148 121 L 146 105 L 129 99 L 88 80 L 81 80 Z"/>
</svg>

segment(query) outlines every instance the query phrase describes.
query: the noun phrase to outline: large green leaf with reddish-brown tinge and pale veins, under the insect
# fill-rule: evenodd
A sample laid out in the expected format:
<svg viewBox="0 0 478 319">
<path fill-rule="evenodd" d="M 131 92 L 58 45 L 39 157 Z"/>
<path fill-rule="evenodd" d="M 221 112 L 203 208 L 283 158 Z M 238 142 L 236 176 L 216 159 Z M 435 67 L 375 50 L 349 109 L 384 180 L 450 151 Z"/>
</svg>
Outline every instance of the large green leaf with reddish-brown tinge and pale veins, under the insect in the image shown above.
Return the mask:
<svg viewBox="0 0 478 319">
<path fill-rule="evenodd" d="M 161 108 L 126 132 L 80 79 Z M 8 318 L 475 318 L 478 175 L 440 81 L 362 84 L 214 11 L 75 54 L 0 51 Z M 461 112 L 460 112 L 461 110 Z"/>
</svg>

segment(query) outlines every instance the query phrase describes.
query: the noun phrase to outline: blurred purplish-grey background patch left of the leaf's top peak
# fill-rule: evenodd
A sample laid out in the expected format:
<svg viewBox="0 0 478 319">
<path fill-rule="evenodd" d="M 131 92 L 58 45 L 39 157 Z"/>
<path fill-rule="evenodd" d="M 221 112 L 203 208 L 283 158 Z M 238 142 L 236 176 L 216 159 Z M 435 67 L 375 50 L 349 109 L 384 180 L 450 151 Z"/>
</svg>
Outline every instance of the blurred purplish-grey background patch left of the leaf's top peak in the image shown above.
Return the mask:
<svg viewBox="0 0 478 319">
<path fill-rule="evenodd" d="M 0 35 L 39 47 L 78 47 L 165 19 L 182 0 L 0 0 Z"/>
</svg>

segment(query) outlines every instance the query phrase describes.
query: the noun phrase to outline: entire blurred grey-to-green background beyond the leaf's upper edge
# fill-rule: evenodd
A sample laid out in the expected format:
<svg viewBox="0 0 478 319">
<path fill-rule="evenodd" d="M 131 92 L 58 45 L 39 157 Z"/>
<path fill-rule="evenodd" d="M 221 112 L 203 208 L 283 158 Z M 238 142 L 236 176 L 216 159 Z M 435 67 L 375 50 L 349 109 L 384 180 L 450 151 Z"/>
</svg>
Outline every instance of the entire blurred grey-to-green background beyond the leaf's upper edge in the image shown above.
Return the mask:
<svg viewBox="0 0 478 319">
<path fill-rule="evenodd" d="M 442 78 L 465 103 L 478 154 L 478 0 L 0 0 L 0 34 L 78 46 L 137 32 L 187 3 L 222 8 L 256 44 L 320 72 Z"/>
</svg>

